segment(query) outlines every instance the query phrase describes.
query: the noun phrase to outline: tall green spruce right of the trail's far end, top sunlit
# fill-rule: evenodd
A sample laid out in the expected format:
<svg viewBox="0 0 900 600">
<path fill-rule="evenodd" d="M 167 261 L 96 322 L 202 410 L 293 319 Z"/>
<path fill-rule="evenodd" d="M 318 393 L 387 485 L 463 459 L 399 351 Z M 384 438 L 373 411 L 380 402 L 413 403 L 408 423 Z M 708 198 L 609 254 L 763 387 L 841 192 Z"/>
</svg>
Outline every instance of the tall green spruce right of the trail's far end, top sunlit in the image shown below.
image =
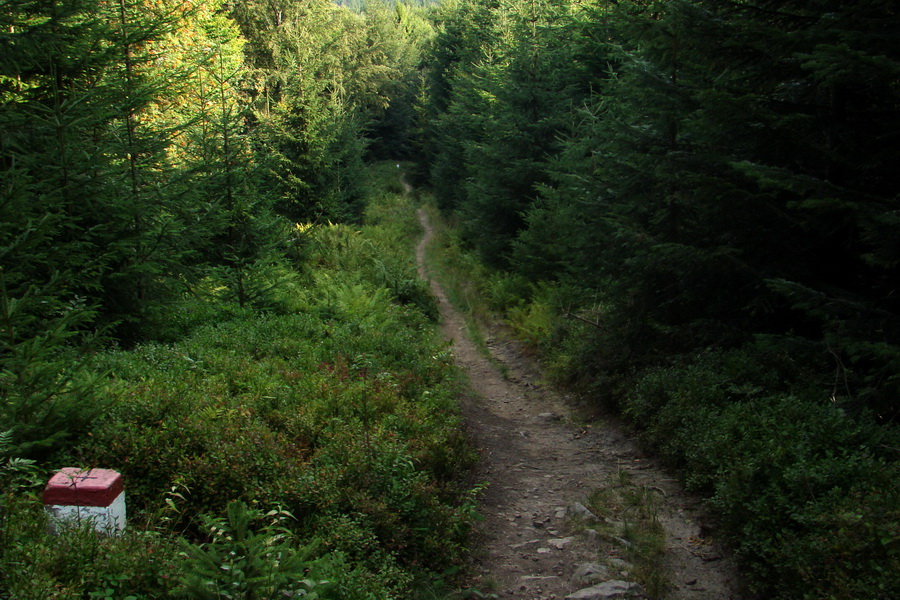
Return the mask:
<svg viewBox="0 0 900 600">
<path fill-rule="evenodd" d="M 433 184 L 467 239 L 505 264 L 547 161 L 590 92 L 576 54 L 583 9 L 529 0 L 445 10 L 430 65 Z"/>
</svg>

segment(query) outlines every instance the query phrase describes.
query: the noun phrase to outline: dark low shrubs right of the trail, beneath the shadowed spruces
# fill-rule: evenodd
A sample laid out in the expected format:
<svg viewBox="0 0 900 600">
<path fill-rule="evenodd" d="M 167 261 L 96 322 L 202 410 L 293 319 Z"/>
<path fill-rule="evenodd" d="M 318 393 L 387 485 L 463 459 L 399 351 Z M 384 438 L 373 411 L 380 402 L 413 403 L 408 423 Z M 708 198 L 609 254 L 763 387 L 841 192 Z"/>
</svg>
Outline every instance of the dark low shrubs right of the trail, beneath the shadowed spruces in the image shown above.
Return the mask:
<svg viewBox="0 0 900 600">
<path fill-rule="evenodd" d="M 625 412 L 709 495 L 755 591 L 900 595 L 900 431 L 786 380 L 755 350 L 643 374 Z"/>
</svg>

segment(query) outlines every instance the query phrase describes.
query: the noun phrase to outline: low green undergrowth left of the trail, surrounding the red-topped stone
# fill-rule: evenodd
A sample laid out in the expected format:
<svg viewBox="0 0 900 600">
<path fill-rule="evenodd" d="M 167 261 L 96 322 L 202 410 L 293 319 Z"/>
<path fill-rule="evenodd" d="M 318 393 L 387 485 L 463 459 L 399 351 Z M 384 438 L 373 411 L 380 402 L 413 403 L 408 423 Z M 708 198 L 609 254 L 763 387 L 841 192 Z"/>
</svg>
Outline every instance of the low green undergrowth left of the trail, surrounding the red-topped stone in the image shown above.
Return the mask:
<svg viewBox="0 0 900 600">
<path fill-rule="evenodd" d="M 0 597 L 410 597 L 461 560 L 474 452 L 396 177 L 375 169 L 361 228 L 295 227 L 268 310 L 191 298 L 166 342 L 90 358 L 103 413 L 0 464 Z M 46 533 L 62 466 L 122 473 L 125 534 Z"/>
</svg>

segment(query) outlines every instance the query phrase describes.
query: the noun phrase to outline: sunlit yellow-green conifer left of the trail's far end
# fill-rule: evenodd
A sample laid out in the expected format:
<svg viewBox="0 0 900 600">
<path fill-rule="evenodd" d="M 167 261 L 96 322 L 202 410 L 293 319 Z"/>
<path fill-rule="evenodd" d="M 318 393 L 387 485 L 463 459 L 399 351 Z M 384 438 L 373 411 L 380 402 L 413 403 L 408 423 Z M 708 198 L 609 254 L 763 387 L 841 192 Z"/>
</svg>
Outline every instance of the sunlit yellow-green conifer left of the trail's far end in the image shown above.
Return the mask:
<svg viewBox="0 0 900 600">
<path fill-rule="evenodd" d="M 365 17 L 327 0 L 238 2 L 233 14 L 248 40 L 257 139 L 278 211 L 358 218 L 365 128 L 393 85 Z"/>
</svg>

